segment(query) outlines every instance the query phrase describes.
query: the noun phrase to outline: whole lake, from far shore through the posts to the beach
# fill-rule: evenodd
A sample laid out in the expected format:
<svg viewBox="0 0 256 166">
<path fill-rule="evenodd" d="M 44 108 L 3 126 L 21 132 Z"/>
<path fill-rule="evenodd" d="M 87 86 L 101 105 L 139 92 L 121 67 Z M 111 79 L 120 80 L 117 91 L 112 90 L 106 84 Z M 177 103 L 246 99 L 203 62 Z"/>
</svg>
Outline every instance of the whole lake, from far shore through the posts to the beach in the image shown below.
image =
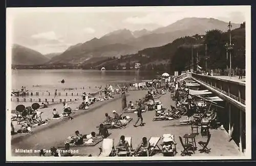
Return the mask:
<svg viewBox="0 0 256 166">
<path fill-rule="evenodd" d="M 42 102 L 46 98 L 51 101 L 53 98 L 55 99 L 55 90 L 61 95 L 57 96 L 54 101 L 65 98 L 74 100 L 81 98 L 83 92 L 97 92 L 99 90 L 98 87 L 102 86 L 104 88 L 106 84 L 111 84 L 113 88 L 118 89 L 117 83 L 121 86 L 120 82 L 153 79 L 156 74 L 147 71 L 12 70 L 12 91 L 20 90 L 23 86 L 29 92 L 33 92 L 34 95 L 27 96 L 26 102 L 24 101 L 24 96 L 16 97 L 13 95 L 11 97 L 11 107 L 14 109 L 18 104 L 31 105 L 30 98 L 32 98 L 32 102 L 38 102 L 38 98 Z M 62 79 L 65 80 L 64 84 L 60 82 Z M 39 92 L 40 95 L 36 96 L 35 92 Z M 50 96 L 48 95 L 49 92 Z M 66 93 L 68 93 L 68 96 L 66 96 Z M 74 96 L 71 93 L 74 93 Z M 17 98 L 19 98 L 19 102 L 17 102 Z"/>
</svg>

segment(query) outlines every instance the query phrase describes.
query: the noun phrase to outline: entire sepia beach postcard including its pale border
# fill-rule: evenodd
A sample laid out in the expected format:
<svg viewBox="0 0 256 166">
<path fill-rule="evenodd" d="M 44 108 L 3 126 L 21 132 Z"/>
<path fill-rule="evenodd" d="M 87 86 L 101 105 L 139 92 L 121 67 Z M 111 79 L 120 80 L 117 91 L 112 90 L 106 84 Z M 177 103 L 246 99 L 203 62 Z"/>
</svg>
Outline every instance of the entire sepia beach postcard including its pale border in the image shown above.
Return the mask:
<svg viewBox="0 0 256 166">
<path fill-rule="evenodd" d="M 6 9 L 6 161 L 251 159 L 251 7 Z"/>
</svg>

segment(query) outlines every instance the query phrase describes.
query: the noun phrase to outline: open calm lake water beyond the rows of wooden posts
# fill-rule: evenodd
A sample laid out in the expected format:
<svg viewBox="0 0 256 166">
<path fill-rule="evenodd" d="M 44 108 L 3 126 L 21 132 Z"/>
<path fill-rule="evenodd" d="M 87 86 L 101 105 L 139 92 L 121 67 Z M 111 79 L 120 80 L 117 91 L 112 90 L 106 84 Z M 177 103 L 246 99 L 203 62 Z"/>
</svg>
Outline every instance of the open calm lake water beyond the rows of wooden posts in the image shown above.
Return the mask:
<svg viewBox="0 0 256 166">
<path fill-rule="evenodd" d="M 111 82 L 153 79 L 157 73 L 148 71 L 105 71 L 98 70 L 12 70 L 12 90 L 46 91 L 77 88 L 93 91 Z M 65 79 L 65 84 L 61 80 Z M 34 86 L 34 87 L 33 87 Z M 35 87 L 38 86 L 38 87 Z"/>
</svg>

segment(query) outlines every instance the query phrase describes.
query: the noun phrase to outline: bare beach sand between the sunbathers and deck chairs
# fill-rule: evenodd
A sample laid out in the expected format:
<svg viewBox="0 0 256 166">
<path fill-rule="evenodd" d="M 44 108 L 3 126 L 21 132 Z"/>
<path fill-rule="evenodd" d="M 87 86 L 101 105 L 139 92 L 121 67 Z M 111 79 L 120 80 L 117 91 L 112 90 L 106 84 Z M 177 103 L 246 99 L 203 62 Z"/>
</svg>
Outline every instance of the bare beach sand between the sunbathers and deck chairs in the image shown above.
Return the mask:
<svg viewBox="0 0 256 166">
<path fill-rule="evenodd" d="M 129 101 L 136 101 L 146 94 L 147 91 L 130 91 L 129 96 L 127 96 L 127 103 Z M 119 95 L 120 97 L 120 95 Z M 167 92 L 165 95 L 160 97 L 161 102 L 163 103 L 163 107 L 169 108 L 169 105 L 175 105 L 175 102 L 170 99 L 170 94 Z M 73 106 L 78 106 L 79 103 L 70 104 Z M 99 104 L 100 103 L 95 103 Z M 93 106 L 93 105 L 92 105 Z M 58 104 L 55 107 L 60 108 L 62 105 Z M 91 109 L 91 108 L 90 108 Z M 98 106 L 96 109 L 83 113 L 73 120 L 63 121 L 58 123 L 57 125 L 49 124 L 49 127 L 45 127 L 45 129 L 41 129 L 38 132 L 32 133 L 22 139 L 16 139 L 16 141 L 12 142 L 11 151 L 13 156 L 38 156 L 38 153 L 15 153 L 15 149 L 50 149 L 52 146 L 63 145 L 66 141 L 67 137 L 70 135 L 75 135 L 75 130 L 79 130 L 82 134 L 89 134 L 92 131 L 98 132 L 96 126 L 99 125 L 104 120 L 104 114 L 109 113 L 112 116 L 112 110 L 116 110 L 119 114 L 121 114 L 121 99 L 118 96 L 115 96 L 113 101 L 106 101 L 101 106 Z M 134 113 L 123 114 L 130 116 L 133 120 L 127 124 L 124 129 L 110 129 L 109 132 L 112 134 L 109 136 L 114 139 L 114 145 L 116 146 L 121 135 L 124 136 L 132 136 L 132 145 L 133 149 L 137 147 L 137 145 L 141 142 L 143 136 L 146 136 L 149 139 L 151 136 L 159 136 L 161 137 L 164 133 L 171 133 L 175 135 L 175 141 L 177 143 L 177 152 L 180 156 L 181 150 L 183 150 L 179 136 L 183 136 L 186 133 L 190 133 L 190 126 L 180 126 L 180 120 L 170 120 L 170 121 L 152 121 L 155 116 L 155 111 L 146 112 L 143 116 L 143 121 L 145 123 L 144 126 L 134 127 L 133 124 L 137 120 L 137 115 Z M 185 117 L 183 117 L 185 118 Z M 47 125 L 46 125 L 47 126 Z M 44 126 L 38 126 L 44 127 Z M 37 128 L 37 127 L 36 127 Z M 35 129 L 36 130 L 36 129 Z M 199 128 L 200 132 L 200 128 Z M 216 129 L 210 130 L 211 140 L 209 142 L 208 147 L 211 148 L 211 152 L 209 154 L 200 153 L 196 151 L 192 156 L 240 156 L 239 148 L 232 141 L 228 142 L 227 132 L 224 130 Z M 12 136 L 13 139 L 15 135 Z M 15 140 L 15 139 L 14 139 Z M 196 142 L 206 141 L 205 137 L 202 137 L 201 134 L 196 136 Z M 99 147 L 102 142 L 97 144 L 94 147 L 72 147 L 72 150 L 79 151 L 78 154 L 92 154 L 93 156 L 97 156 L 99 154 Z M 158 146 L 161 148 L 161 141 Z M 197 143 L 198 149 L 201 149 L 200 145 Z M 49 154 L 46 154 L 49 155 Z M 162 156 L 161 153 L 156 154 L 154 156 Z"/>
</svg>

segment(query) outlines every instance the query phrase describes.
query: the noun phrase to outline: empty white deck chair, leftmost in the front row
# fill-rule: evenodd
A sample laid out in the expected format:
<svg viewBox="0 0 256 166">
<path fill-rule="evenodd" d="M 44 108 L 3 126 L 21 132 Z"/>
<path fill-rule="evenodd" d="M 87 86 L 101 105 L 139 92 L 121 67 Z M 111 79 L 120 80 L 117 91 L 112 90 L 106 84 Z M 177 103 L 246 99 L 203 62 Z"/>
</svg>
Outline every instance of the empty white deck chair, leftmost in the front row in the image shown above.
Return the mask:
<svg viewBox="0 0 256 166">
<path fill-rule="evenodd" d="M 100 153 L 98 156 L 108 157 L 115 156 L 114 139 L 103 139 L 102 146 L 99 148 Z"/>
</svg>

